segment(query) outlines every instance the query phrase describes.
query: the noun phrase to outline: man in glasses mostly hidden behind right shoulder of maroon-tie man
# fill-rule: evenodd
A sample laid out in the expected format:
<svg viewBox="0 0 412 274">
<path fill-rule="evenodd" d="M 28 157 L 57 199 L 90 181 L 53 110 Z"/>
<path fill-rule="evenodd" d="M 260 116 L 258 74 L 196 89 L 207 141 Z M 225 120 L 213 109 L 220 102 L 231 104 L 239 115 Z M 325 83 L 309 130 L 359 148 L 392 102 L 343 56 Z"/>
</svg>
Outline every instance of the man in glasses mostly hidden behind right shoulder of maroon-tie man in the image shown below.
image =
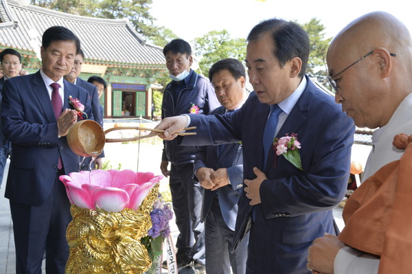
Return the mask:
<svg viewBox="0 0 412 274">
<path fill-rule="evenodd" d="M 83 89 L 86 89 L 87 92 L 89 93 L 91 97 L 91 109 L 93 112 L 93 117 L 95 122 L 98 122 L 100 126 L 103 127 L 103 116 L 102 112 L 100 111 L 100 103 L 99 103 L 99 93 L 98 89 L 95 87 L 95 85 L 82 80 L 80 78 L 80 73 L 82 72 L 82 65 L 84 62 L 84 52 L 82 49 L 79 50 L 78 54 L 76 54 L 76 58 L 74 58 L 74 63 L 73 67 L 71 68 L 70 72 L 65 75 L 65 80 L 71 82 L 72 84 L 76 84 L 79 87 L 82 87 Z M 102 157 L 104 157 L 104 153 L 99 155 L 93 162 L 93 167 L 92 169 L 95 169 L 95 165 L 97 165 L 97 169 L 102 168 Z M 90 170 L 90 162 L 91 162 L 91 157 L 87 157 L 86 159 L 80 159 L 82 160 L 80 162 L 80 169 L 81 170 Z"/>
</svg>

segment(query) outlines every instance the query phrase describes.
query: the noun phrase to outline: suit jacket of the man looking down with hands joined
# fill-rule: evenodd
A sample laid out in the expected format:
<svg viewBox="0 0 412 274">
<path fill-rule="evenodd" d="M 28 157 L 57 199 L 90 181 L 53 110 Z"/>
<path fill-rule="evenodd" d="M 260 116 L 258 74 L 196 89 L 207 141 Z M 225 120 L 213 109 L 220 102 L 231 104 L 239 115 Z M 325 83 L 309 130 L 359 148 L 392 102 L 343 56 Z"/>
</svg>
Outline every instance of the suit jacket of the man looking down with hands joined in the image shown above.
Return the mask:
<svg viewBox="0 0 412 274">
<path fill-rule="evenodd" d="M 224 106 L 218 107 L 209 114 L 224 114 Z M 218 155 L 218 146 L 202 146 L 198 149 L 194 158 L 194 172 L 199 168 L 227 168 L 229 185 L 218 190 L 205 190 L 203 195 L 201 221 L 203 222 L 209 213 L 214 194 L 218 194 L 220 212 L 229 229 L 235 230 L 236 216 L 238 214 L 238 201 L 243 186 L 243 157 L 242 145 L 239 143 L 226 144 L 221 155 Z"/>
</svg>

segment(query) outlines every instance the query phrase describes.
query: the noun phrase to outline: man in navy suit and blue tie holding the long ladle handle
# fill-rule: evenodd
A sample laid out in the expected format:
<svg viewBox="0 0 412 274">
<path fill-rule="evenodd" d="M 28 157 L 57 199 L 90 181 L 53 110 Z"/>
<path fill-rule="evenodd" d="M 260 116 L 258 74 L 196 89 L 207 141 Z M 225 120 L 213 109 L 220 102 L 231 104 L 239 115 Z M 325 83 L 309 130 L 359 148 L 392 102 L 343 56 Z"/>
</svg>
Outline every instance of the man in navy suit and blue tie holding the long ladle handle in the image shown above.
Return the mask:
<svg viewBox="0 0 412 274">
<path fill-rule="evenodd" d="M 187 124 L 197 126 L 197 135 L 184 137 L 182 145 L 242 141 L 244 192 L 234 248 L 250 229 L 247 273 L 310 273 L 306 256 L 312 241 L 337 233 L 332 208 L 345 195 L 354 124 L 305 76 L 309 49 L 299 25 L 262 21 L 248 36 L 246 63 L 255 91 L 242 108 L 225 115 L 182 115 L 157 126 L 167 128 L 165 139 Z M 271 144 L 274 137 L 291 135 L 300 142 L 297 152 L 286 146 L 285 155 L 282 146 Z M 291 153 L 295 157 L 286 158 Z"/>
</svg>

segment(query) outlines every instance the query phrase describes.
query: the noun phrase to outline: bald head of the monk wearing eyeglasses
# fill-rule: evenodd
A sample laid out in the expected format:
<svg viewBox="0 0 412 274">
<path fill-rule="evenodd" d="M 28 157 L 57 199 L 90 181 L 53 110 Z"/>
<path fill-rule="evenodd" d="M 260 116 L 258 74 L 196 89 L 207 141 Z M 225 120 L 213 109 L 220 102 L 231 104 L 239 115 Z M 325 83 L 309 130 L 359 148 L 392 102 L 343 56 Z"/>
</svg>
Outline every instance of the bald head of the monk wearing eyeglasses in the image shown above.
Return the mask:
<svg viewBox="0 0 412 274">
<path fill-rule="evenodd" d="M 326 60 L 339 89 L 336 102 L 357 126 L 384 126 L 411 93 L 411 34 L 387 12 L 365 14 L 343 28 Z"/>
</svg>

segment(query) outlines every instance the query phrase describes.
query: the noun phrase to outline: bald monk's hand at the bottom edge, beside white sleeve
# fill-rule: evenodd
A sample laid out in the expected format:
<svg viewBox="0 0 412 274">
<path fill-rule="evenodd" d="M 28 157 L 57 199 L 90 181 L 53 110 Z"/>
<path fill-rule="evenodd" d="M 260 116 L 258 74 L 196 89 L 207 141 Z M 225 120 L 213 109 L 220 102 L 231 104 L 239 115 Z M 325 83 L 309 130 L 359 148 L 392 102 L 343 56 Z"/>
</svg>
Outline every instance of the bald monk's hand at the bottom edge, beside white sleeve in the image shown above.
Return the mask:
<svg viewBox="0 0 412 274">
<path fill-rule="evenodd" d="M 345 244 L 337 236 L 325 233 L 325 236 L 313 241 L 308 249 L 308 264 L 306 267 L 314 273 L 330 274 L 334 272 L 334 259 Z"/>
</svg>

